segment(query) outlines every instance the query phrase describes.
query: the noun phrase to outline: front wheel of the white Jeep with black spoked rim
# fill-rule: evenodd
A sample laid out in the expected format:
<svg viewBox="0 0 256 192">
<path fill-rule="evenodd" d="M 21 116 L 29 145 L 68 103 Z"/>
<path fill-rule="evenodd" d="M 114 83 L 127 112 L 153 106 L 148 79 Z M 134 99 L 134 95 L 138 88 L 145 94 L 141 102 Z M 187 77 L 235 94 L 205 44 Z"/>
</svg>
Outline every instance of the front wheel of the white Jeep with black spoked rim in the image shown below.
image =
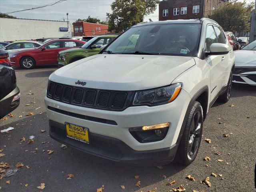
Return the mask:
<svg viewBox="0 0 256 192">
<path fill-rule="evenodd" d="M 186 120 L 186 125 L 180 140 L 180 144 L 175 156 L 175 162 L 182 165 L 189 165 L 198 153 L 203 131 L 203 108 L 195 101 Z"/>
</svg>

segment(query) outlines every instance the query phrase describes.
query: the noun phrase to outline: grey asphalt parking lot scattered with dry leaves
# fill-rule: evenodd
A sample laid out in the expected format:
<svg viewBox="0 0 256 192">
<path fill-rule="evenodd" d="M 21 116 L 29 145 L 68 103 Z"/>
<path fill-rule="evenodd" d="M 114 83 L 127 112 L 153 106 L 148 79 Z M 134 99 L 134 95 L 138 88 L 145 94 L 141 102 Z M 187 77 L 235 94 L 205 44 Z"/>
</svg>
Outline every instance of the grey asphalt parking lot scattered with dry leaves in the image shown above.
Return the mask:
<svg viewBox="0 0 256 192">
<path fill-rule="evenodd" d="M 19 171 L 10 177 L 5 177 L 2 171 L 0 191 L 96 192 L 104 186 L 103 192 L 168 192 L 182 184 L 188 192 L 255 191 L 256 87 L 234 85 L 228 103 L 216 102 L 210 108 L 204 122 L 203 139 L 208 138 L 211 143 L 202 140 L 198 156 L 190 166 L 172 163 L 157 168 L 112 162 L 70 147 L 61 148 L 60 143 L 52 140 L 43 98 L 48 76 L 56 69 L 16 69 L 21 103 L 12 112 L 13 117 L 0 120 L 1 130 L 14 128 L 0 134 L 1 154 L 5 154 L 0 161 L 10 165 L 6 171 Z M 34 115 L 27 116 L 30 112 Z M 30 136 L 35 138 L 28 144 Z M 48 154 L 48 150 L 54 152 Z M 210 161 L 204 160 L 206 156 Z M 18 163 L 22 163 L 21 167 L 16 168 Z M 212 173 L 216 177 L 211 176 Z M 67 179 L 68 174 L 74 177 L 70 175 Z M 188 175 L 195 181 L 186 179 Z M 200 183 L 207 176 L 211 187 Z M 167 186 L 172 180 L 175 183 Z M 138 181 L 140 187 L 135 186 Z M 41 183 L 45 184 L 44 189 L 37 188 Z"/>
</svg>

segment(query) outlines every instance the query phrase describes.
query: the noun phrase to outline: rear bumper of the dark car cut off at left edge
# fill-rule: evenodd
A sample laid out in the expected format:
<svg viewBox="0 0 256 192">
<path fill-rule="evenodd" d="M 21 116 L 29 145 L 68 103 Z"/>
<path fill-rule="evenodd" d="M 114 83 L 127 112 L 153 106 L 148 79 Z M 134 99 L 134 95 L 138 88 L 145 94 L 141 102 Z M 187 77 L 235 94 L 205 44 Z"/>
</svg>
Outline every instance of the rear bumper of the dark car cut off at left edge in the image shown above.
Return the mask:
<svg viewBox="0 0 256 192">
<path fill-rule="evenodd" d="M 2 100 L 0 101 L 0 117 L 6 116 L 8 113 L 12 112 L 14 109 L 16 109 L 20 104 L 20 98 L 12 101 L 13 97 L 20 93 L 20 90 L 18 86 L 10 92 L 8 95 L 6 95 Z"/>
</svg>

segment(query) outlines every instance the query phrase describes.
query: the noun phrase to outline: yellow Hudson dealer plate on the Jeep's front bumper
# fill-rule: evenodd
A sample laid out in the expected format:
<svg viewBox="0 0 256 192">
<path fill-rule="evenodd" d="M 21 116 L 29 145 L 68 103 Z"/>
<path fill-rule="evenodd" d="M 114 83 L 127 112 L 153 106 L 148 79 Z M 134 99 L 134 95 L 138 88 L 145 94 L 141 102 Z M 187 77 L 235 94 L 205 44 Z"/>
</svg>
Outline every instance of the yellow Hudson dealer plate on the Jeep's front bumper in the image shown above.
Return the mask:
<svg viewBox="0 0 256 192">
<path fill-rule="evenodd" d="M 67 137 L 89 144 L 89 129 L 65 122 Z"/>
</svg>

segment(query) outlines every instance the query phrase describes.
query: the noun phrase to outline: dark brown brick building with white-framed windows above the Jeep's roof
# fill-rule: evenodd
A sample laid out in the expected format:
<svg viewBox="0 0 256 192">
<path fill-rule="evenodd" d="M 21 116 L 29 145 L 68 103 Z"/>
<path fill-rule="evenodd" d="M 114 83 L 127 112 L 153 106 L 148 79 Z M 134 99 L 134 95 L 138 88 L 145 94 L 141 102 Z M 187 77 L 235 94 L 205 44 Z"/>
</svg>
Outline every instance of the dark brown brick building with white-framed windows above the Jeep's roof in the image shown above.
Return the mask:
<svg viewBox="0 0 256 192">
<path fill-rule="evenodd" d="M 230 0 L 162 0 L 159 20 L 200 19 Z"/>
</svg>

